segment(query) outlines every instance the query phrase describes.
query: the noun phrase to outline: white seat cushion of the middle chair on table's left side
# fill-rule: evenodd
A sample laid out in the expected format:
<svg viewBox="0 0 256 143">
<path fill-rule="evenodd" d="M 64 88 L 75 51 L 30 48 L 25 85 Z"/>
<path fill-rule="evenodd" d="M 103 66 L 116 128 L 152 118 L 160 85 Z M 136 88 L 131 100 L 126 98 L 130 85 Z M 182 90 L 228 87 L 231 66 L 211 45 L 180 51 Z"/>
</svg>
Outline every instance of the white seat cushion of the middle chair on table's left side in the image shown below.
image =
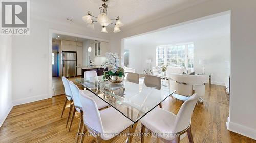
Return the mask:
<svg viewBox="0 0 256 143">
<path fill-rule="evenodd" d="M 90 92 L 90 91 L 88 91 L 88 90 L 82 90 L 82 91 L 83 91 L 83 93 L 85 93 L 87 96 L 91 97 L 91 98 L 95 101 L 95 103 L 96 103 L 98 109 L 102 109 L 102 108 L 104 108 L 104 107 L 106 107 L 106 106 L 109 106 L 108 103 L 104 102 L 102 99 L 100 99 L 99 97 L 97 97 L 97 96 L 96 96 L 95 94 L 93 94 L 92 92 Z M 79 101 L 80 101 L 80 100 L 79 100 Z M 78 107 L 82 108 L 81 102 L 78 102 L 75 106 L 78 106 Z M 77 111 L 78 111 L 78 110 L 77 110 Z M 78 112 L 79 112 L 79 111 L 78 111 Z"/>
</svg>

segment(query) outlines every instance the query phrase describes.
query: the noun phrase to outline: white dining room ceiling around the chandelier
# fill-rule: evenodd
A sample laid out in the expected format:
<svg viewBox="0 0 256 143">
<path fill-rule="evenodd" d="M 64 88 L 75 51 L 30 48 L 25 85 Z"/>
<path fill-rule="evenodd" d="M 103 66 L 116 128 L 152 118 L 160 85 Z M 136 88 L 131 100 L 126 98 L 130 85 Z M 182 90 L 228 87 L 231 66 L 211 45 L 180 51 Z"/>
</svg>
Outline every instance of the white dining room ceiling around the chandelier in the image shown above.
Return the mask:
<svg viewBox="0 0 256 143">
<path fill-rule="evenodd" d="M 125 26 L 136 22 L 154 20 L 172 11 L 184 9 L 206 0 L 109 0 L 108 17 L 115 19 L 120 16 Z M 99 7 L 103 4 L 101 0 L 33 0 L 31 3 L 31 15 L 40 19 L 55 22 L 66 22 L 66 18 L 72 18 L 73 24 L 86 27 L 81 19 L 90 11 L 92 15 L 99 14 Z M 108 27 L 112 31 L 112 27 Z M 125 27 L 124 26 L 124 27 Z M 100 30 L 98 23 L 95 28 Z"/>
</svg>

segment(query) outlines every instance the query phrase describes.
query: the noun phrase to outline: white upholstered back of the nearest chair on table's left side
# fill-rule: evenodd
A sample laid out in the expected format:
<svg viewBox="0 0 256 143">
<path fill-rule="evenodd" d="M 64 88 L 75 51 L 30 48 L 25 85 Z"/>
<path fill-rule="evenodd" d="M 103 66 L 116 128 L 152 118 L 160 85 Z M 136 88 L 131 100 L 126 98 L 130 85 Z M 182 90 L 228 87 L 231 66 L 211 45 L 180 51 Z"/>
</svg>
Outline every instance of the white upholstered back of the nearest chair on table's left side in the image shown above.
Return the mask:
<svg viewBox="0 0 256 143">
<path fill-rule="evenodd" d="M 86 114 L 83 116 L 84 124 L 96 132 L 103 133 L 102 121 L 95 101 L 82 91 L 79 91 L 79 99 L 83 112 Z"/>
</svg>

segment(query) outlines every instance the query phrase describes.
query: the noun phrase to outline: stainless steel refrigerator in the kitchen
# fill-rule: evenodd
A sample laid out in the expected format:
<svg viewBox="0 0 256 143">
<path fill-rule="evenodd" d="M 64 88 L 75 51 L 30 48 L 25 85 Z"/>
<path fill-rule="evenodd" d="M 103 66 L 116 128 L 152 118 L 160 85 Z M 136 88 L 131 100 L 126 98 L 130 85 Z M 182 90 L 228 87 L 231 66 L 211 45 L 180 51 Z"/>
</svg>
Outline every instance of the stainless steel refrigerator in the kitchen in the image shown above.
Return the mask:
<svg viewBox="0 0 256 143">
<path fill-rule="evenodd" d="M 76 76 L 76 53 L 62 52 L 62 76 Z"/>
</svg>

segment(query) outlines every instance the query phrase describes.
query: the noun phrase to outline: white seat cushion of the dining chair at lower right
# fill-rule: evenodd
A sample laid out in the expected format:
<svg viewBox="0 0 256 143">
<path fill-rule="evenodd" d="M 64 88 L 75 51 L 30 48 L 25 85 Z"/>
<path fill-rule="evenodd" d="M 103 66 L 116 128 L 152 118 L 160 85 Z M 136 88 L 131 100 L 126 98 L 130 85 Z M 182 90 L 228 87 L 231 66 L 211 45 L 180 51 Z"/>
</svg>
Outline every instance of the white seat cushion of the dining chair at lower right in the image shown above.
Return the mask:
<svg viewBox="0 0 256 143">
<path fill-rule="evenodd" d="M 154 133 L 172 134 L 176 115 L 161 108 L 155 108 L 145 115 L 140 122 Z M 173 140 L 174 136 L 159 136 L 166 140 Z"/>
</svg>

